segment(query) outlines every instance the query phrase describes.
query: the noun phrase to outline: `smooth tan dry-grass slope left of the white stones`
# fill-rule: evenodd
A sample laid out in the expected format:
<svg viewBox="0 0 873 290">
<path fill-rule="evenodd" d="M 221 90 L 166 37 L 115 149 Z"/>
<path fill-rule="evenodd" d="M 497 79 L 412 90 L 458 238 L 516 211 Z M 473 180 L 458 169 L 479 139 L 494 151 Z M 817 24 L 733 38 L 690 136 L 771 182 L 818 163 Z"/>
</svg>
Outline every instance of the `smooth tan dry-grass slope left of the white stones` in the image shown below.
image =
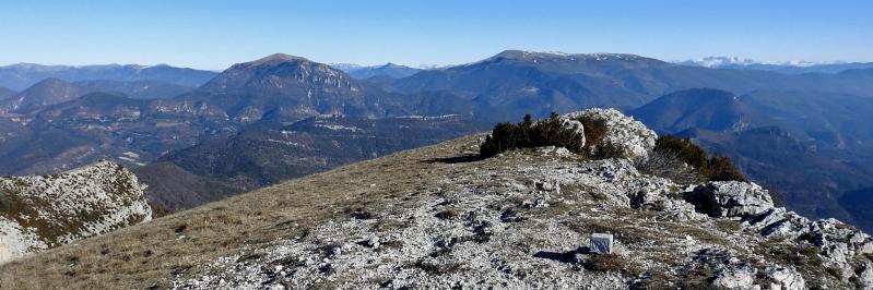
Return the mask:
<svg viewBox="0 0 873 290">
<path fill-rule="evenodd" d="M 480 162 L 460 156 L 477 136 L 398 153 L 168 215 L 0 266 L 0 289 L 143 289 L 247 244 L 298 237 L 332 218 L 379 213 Z M 361 209 L 361 210 L 358 210 Z"/>
</svg>

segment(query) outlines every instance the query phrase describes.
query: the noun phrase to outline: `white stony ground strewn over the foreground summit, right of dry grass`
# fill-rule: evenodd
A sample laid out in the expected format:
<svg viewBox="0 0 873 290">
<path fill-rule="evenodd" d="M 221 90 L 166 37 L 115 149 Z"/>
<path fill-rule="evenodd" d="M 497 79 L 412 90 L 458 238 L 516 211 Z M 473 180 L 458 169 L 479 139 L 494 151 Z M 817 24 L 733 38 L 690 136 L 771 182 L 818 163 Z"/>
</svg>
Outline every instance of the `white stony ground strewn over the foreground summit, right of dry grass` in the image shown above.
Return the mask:
<svg viewBox="0 0 873 290">
<path fill-rule="evenodd" d="M 639 156 L 653 146 L 648 136 L 621 141 Z M 628 159 L 580 160 L 553 147 L 471 156 L 433 160 L 472 166 L 399 194 L 382 212 L 356 209 L 245 246 L 173 287 L 873 287 L 869 235 L 774 207 L 754 183 L 675 184 Z M 614 255 L 588 252 L 593 232 L 615 234 Z"/>
</svg>

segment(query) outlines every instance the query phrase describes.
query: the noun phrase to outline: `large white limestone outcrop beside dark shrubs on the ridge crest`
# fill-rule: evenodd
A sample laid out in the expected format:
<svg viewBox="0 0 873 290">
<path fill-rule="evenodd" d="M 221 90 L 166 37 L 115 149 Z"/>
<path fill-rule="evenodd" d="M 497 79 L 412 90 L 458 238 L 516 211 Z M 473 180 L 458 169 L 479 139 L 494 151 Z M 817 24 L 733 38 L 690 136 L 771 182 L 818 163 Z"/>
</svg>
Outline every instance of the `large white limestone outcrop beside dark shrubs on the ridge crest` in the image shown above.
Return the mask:
<svg viewBox="0 0 873 290">
<path fill-rule="evenodd" d="M 580 118 L 602 120 L 606 124 L 603 140 L 600 141 L 600 144 L 591 144 L 590 147 L 597 150 L 600 146 L 612 144 L 618 146 L 632 159 L 648 158 L 649 153 L 654 148 L 654 141 L 658 138 L 654 131 L 616 109 L 594 108 L 570 112 L 562 117 L 570 120 Z"/>
</svg>

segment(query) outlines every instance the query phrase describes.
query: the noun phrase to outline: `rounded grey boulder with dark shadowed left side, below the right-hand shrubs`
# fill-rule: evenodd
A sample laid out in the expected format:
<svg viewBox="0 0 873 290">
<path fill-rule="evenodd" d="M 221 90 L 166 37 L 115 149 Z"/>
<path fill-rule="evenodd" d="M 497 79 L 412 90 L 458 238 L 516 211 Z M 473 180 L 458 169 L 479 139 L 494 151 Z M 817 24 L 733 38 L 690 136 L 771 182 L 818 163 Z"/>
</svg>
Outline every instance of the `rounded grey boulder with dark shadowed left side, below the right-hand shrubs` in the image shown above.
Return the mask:
<svg viewBox="0 0 873 290">
<path fill-rule="evenodd" d="M 685 193 L 697 212 L 717 218 L 742 218 L 774 207 L 772 197 L 751 182 L 713 181 Z"/>
</svg>

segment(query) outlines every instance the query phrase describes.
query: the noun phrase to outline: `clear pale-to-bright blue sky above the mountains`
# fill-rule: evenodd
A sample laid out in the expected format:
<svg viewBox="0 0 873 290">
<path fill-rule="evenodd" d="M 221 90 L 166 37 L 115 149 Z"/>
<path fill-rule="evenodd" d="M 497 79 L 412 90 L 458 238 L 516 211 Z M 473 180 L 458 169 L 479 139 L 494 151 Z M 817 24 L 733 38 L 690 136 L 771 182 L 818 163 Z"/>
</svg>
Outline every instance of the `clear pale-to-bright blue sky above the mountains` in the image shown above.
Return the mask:
<svg viewBox="0 0 873 290">
<path fill-rule="evenodd" d="M 453 64 L 505 49 L 873 61 L 873 1 L 0 0 L 0 64 Z"/>
</svg>

